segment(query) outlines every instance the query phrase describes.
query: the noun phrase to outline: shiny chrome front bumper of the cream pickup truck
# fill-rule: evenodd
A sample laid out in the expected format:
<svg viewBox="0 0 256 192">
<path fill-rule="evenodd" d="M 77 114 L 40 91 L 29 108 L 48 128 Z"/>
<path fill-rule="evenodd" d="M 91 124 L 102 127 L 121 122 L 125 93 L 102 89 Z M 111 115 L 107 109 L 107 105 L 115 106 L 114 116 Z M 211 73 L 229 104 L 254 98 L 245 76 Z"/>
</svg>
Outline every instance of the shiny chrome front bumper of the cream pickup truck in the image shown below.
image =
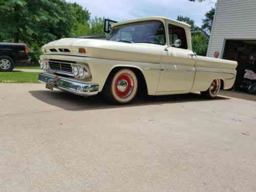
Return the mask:
<svg viewBox="0 0 256 192">
<path fill-rule="evenodd" d="M 99 91 L 99 85 L 95 83 L 78 82 L 73 79 L 68 79 L 48 73 L 41 73 L 38 77 L 38 81 L 41 83 L 47 83 L 54 81 L 54 88 L 67 91 L 80 96 L 96 95 Z"/>
</svg>

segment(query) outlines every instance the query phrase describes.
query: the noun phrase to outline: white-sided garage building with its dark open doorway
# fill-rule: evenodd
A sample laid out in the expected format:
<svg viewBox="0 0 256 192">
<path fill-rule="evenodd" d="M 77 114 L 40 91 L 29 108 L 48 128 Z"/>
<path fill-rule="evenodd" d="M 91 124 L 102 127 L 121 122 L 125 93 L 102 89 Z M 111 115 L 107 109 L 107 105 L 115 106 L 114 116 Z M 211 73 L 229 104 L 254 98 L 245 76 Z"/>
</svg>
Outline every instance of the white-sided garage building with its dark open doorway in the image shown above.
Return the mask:
<svg viewBox="0 0 256 192">
<path fill-rule="evenodd" d="M 242 89 L 246 70 L 256 83 L 255 0 L 218 0 L 207 56 L 238 61 L 236 89 Z"/>
</svg>

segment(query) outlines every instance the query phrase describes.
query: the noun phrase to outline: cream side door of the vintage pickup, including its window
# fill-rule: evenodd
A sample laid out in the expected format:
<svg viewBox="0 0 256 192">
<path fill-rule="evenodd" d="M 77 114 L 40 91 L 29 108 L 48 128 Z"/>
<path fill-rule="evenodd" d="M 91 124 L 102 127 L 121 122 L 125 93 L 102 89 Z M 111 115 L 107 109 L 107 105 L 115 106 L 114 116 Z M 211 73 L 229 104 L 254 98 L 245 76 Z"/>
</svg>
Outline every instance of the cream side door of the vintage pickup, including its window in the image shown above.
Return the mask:
<svg viewBox="0 0 256 192">
<path fill-rule="evenodd" d="M 168 23 L 169 45 L 181 40 L 180 47 L 168 47 L 163 50 L 161 73 L 157 92 L 189 92 L 195 77 L 196 56 L 188 50 L 187 39 L 190 36 L 181 26 Z"/>
</svg>

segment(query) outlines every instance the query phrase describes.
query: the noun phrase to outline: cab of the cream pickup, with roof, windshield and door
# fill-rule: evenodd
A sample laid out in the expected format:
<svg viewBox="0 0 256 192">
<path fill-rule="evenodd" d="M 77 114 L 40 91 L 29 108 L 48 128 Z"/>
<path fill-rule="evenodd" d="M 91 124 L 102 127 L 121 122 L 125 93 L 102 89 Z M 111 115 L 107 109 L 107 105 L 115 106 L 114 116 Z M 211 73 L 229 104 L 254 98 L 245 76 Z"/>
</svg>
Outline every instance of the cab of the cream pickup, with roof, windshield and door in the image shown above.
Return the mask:
<svg viewBox="0 0 256 192">
<path fill-rule="evenodd" d="M 138 42 L 137 39 L 143 39 L 141 37 L 136 37 L 127 35 L 129 32 L 124 29 L 123 26 L 133 26 L 138 25 L 150 25 L 157 26 L 155 34 L 148 34 L 144 31 L 143 35 L 146 37 L 145 41 L 151 41 L 152 44 L 160 45 L 161 50 L 161 75 L 159 86 L 156 90 L 157 94 L 169 94 L 175 92 L 187 92 L 193 87 L 193 81 L 196 73 L 196 54 L 192 51 L 191 45 L 191 33 L 190 26 L 184 22 L 178 22 L 177 20 L 172 20 L 166 17 L 148 17 L 141 19 L 133 19 L 127 22 L 120 22 L 112 25 L 112 30 L 107 39 L 110 40 L 120 40 L 120 41 L 133 41 Z M 156 25 L 159 23 L 159 25 Z M 150 24 L 150 25 L 149 25 Z M 113 33 L 118 29 L 117 38 L 114 39 Z M 152 35 L 152 36 L 150 36 Z M 137 38 L 137 39 L 136 39 Z M 148 43 L 148 42 L 147 42 Z M 168 88 L 168 89 L 166 89 Z"/>
</svg>

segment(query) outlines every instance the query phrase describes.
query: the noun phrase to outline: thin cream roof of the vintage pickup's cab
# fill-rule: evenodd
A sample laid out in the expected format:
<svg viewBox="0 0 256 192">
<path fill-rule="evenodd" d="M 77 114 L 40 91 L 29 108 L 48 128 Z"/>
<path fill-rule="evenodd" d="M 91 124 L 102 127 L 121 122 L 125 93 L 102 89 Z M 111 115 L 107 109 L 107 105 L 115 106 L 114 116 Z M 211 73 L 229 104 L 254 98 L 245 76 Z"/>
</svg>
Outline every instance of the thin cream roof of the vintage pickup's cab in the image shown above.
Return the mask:
<svg viewBox="0 0 256 192">
<path fill-rule="evenodd" d="M 174 24 L 179 24 L 182 25 L 184 28 L 190 28 L 190 25 L 186 24 L 185 22 L 179 22 L 178 20 L 175 19 L 170 19 L 167 17 L 145 17 L 145 18 L 137 18 L 137 19 L 131 19 L 131 20 L 125 20 L 124 22 L 118 22 L 112 25 L 112 27 L 116 27 L 119 25 L 124 25 L 124 24 L 131 24 L 131 23 L 136 23 L 136 22 L 143 22 L 144 20 L 161 20 L 163 23 L 168 20 Z"/>
</svg>

